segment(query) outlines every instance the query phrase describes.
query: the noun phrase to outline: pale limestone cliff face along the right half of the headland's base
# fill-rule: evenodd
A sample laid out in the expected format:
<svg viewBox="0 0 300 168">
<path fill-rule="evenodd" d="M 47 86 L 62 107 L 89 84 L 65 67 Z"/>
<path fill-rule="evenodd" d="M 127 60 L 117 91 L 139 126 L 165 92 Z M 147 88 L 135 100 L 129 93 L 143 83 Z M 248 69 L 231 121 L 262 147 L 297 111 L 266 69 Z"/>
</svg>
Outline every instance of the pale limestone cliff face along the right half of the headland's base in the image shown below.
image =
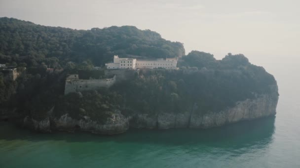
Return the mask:
<svg viewBox="0 0 300 168">
<path fill-rule="evenodd" d="M 130 126 L 134 128 L 210 128 L 243 120 L 251 120 L 275 115 L 278 102 L 277 85 L 270 86 L 272 94 L 258 95 L 255 99 L 247 99 L 221 112 L 205 112 L 204 114 L 183 112 L 158 113 L 156 116 L 136 114 Z"/>
</svg>

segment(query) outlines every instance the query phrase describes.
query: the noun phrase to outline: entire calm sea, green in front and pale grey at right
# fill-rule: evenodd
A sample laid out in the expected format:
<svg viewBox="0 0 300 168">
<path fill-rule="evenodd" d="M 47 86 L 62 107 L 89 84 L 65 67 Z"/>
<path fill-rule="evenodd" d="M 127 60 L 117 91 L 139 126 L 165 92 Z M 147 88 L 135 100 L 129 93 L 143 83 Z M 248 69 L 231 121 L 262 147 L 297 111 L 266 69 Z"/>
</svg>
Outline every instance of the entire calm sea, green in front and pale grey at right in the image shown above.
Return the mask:
<svg viewBox="0 0 300 168">
<path fill-rule="evenodd" d="M 130 130 L 116 136 L 36 134 L 0 122 L 0 168 L 300 168 L 299 62 L 293 57 L 251 61 L 278 82 L 276 117 L 208 130 Z"/>
</svg>

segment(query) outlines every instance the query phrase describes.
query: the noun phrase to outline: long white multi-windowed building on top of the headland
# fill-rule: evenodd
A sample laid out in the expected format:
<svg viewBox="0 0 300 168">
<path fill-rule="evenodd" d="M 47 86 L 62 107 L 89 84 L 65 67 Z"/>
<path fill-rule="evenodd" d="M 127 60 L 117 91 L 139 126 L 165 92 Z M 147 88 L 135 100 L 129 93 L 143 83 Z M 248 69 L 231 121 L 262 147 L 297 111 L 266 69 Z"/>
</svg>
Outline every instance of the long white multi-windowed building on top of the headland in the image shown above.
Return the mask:
<svg viewBox="0 0 300 168">
<path fill-rule="evenodd" d="M 176 58 L 154 59 L 154 60 L 137 60 L 135 58 L 119 58 L 113 56 L 113 63 L 105 64 L 108 69 L 136 69 L 136 68 L 164 68 L 178 69 Z"/>
</svg>

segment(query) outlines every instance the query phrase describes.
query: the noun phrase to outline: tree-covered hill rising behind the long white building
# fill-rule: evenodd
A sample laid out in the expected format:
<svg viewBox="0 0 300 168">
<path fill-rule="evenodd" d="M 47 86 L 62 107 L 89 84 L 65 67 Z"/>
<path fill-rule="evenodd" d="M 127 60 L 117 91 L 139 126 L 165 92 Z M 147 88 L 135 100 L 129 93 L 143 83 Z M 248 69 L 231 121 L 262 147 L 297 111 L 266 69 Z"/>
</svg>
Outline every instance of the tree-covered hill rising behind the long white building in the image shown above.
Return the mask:
<svg viewBox="0 0 300 168">
<path fill-rule="evenodd" d="M 185 55 L 185 49 L 180 42 L 133 26 L 76 30 L 0 18 L 0 63 L 36 66 L 45 62 L 48 66 L 64 67 L 70 61 L 76 64 L 89 60 L 100 66 L 112 60 L 113 55 L 179 57 Z"/>
</svg>

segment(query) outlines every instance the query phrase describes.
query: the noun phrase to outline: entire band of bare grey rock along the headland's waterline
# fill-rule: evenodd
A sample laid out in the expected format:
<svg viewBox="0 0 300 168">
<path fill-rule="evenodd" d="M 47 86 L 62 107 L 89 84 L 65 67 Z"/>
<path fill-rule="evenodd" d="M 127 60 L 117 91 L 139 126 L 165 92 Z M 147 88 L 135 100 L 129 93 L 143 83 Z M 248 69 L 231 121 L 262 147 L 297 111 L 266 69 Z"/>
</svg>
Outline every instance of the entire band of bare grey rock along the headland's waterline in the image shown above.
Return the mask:
<svg viewBox="0 0 300 168">
<path fill-rule="evenodd" d="M 40 121 L 26 116 L 22 121 L 22 125 L 39 132 L 51 132 L 54 130 L 68 132 L 87 131 L 105 135 L 124 133 L 130 128 L 206 129 L 275 115 L 278 102 L 278 88 L 277 86 L 271 86 L 270 88 L 272 89 L 272 94 L 258 95 L 255 99 L 237 102 L 234 107 L 227 108 L 221 112 L 205 112 L 204 114 L 196 112 L 160 112 L 154 115 L 136 113 L 124 116 L 120 111 L 116 111 L 110 113 L 105 122 L 100 123 L 92 120 L 89 116 L 74 119 L 69 114 L 64 114 L 56 118 L 49 111 L 49 116 Z"/>
</svg>

